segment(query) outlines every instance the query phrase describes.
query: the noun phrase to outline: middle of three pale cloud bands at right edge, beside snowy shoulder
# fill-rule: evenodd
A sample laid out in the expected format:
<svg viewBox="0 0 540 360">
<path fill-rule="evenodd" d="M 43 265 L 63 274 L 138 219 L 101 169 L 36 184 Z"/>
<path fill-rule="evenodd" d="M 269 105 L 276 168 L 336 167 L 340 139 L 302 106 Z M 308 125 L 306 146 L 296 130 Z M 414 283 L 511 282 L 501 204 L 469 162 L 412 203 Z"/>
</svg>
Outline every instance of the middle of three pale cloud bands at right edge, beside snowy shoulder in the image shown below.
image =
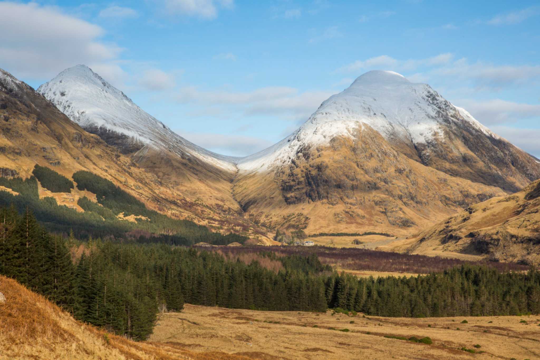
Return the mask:
<svg viewBox="0 0 540 360">
<path fill-rule="evenodd" d="M 501 99 L 487 101 L 463 99 L 454 103 L 467 109 L 484 125 L 516 123 L 523 119 L 540 118 L 540 105 L 513 103 Z"/>
</svg>

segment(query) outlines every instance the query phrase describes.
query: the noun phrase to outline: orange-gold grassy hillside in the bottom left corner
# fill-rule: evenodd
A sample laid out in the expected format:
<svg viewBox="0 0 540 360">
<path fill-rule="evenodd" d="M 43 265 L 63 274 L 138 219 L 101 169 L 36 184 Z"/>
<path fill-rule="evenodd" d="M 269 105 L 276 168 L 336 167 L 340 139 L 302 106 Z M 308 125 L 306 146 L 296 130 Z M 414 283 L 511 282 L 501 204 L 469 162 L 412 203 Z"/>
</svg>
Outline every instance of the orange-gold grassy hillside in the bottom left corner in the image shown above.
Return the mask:
<svg viewBox="0 0 540 360">
<path fill-rule="evenodd" d="M 0 276 L 0 359 L 247 359 L 221 351 L 133 342 L 78 322 L 15 280 Z"/>
</svg>

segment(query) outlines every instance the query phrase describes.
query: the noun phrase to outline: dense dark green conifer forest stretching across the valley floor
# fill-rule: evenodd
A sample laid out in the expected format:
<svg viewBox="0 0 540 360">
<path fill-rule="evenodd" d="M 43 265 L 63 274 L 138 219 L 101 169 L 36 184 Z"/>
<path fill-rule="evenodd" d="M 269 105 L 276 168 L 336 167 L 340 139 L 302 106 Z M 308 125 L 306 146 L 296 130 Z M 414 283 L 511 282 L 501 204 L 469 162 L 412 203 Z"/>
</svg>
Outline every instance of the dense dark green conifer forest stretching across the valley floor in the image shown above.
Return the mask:
<svg viewBox="0 0 540 360">
<path fill-rule="evenodd" d="M 77 246 L 49 234 L 29 210 L 0 208 L 0 273 L 14 277 L 77 319 L 134 339 L 152 331 L 158 309 L 184 303 L 274 311 L 363 311 L 426 317 L 540 313 L 540 274 L 463 264 L 430 275 L 358 279 L 316 254 L 253 259 L 168 244 L 90 239 Z"/>
</svg>

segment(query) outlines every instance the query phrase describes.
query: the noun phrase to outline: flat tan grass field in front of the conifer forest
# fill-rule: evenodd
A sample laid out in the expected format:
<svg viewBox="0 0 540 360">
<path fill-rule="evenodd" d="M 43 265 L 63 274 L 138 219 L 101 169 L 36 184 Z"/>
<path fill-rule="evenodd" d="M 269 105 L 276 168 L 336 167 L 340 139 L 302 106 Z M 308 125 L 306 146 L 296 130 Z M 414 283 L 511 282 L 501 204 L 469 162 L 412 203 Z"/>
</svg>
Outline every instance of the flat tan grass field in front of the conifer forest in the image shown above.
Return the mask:
<svg viewBox="0 0 540 360">
<path fill-rule="evenodd" d="M 540 358 L 540 315 L 417 319 L 332 313 L 186 304 L 182 313 L 159 316 L 149 342 L 164 348 L 224 351 L 266 360 Z M 463 320 L 468 323 L 461 323 Z M 349 331 L 338 331 L 342 329 Z M 385 336 L 427 336 L 433 344 Z"/>
</svg>

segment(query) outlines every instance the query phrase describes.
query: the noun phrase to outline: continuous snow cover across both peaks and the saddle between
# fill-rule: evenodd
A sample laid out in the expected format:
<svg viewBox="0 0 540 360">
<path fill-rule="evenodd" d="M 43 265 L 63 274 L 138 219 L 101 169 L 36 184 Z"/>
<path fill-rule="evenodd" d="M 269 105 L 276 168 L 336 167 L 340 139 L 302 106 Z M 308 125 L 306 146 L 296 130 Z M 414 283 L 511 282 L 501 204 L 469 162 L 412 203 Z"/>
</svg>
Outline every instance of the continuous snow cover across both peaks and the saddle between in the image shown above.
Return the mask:
<svg viewBox="0 0 540 360">
<path fill-rule="evenodd" d="M 393 71 L 369 71 L 335 94 L 298 130 L 277 144 L 245 158 L 207 151 L 172 132 L 84 65 L 64 70 L 38 92 L 84 128 L 100 126 L 129 135 L 147 146 L 197 157 L 242 173 L 288 164 L 303 148 L 326 144 L 335 135 L 352 135 L 363 124 L 392 142 L 416 148 L 443 140 L 449 128 L 466 127 L 500 139 L 467 111 L 441 97 L 427 84 L 411 83 Z M 141 152 L 144 151 L 144 148 Z M 429 150 L 423 150 L 429 152 Z"/>
</svg>

